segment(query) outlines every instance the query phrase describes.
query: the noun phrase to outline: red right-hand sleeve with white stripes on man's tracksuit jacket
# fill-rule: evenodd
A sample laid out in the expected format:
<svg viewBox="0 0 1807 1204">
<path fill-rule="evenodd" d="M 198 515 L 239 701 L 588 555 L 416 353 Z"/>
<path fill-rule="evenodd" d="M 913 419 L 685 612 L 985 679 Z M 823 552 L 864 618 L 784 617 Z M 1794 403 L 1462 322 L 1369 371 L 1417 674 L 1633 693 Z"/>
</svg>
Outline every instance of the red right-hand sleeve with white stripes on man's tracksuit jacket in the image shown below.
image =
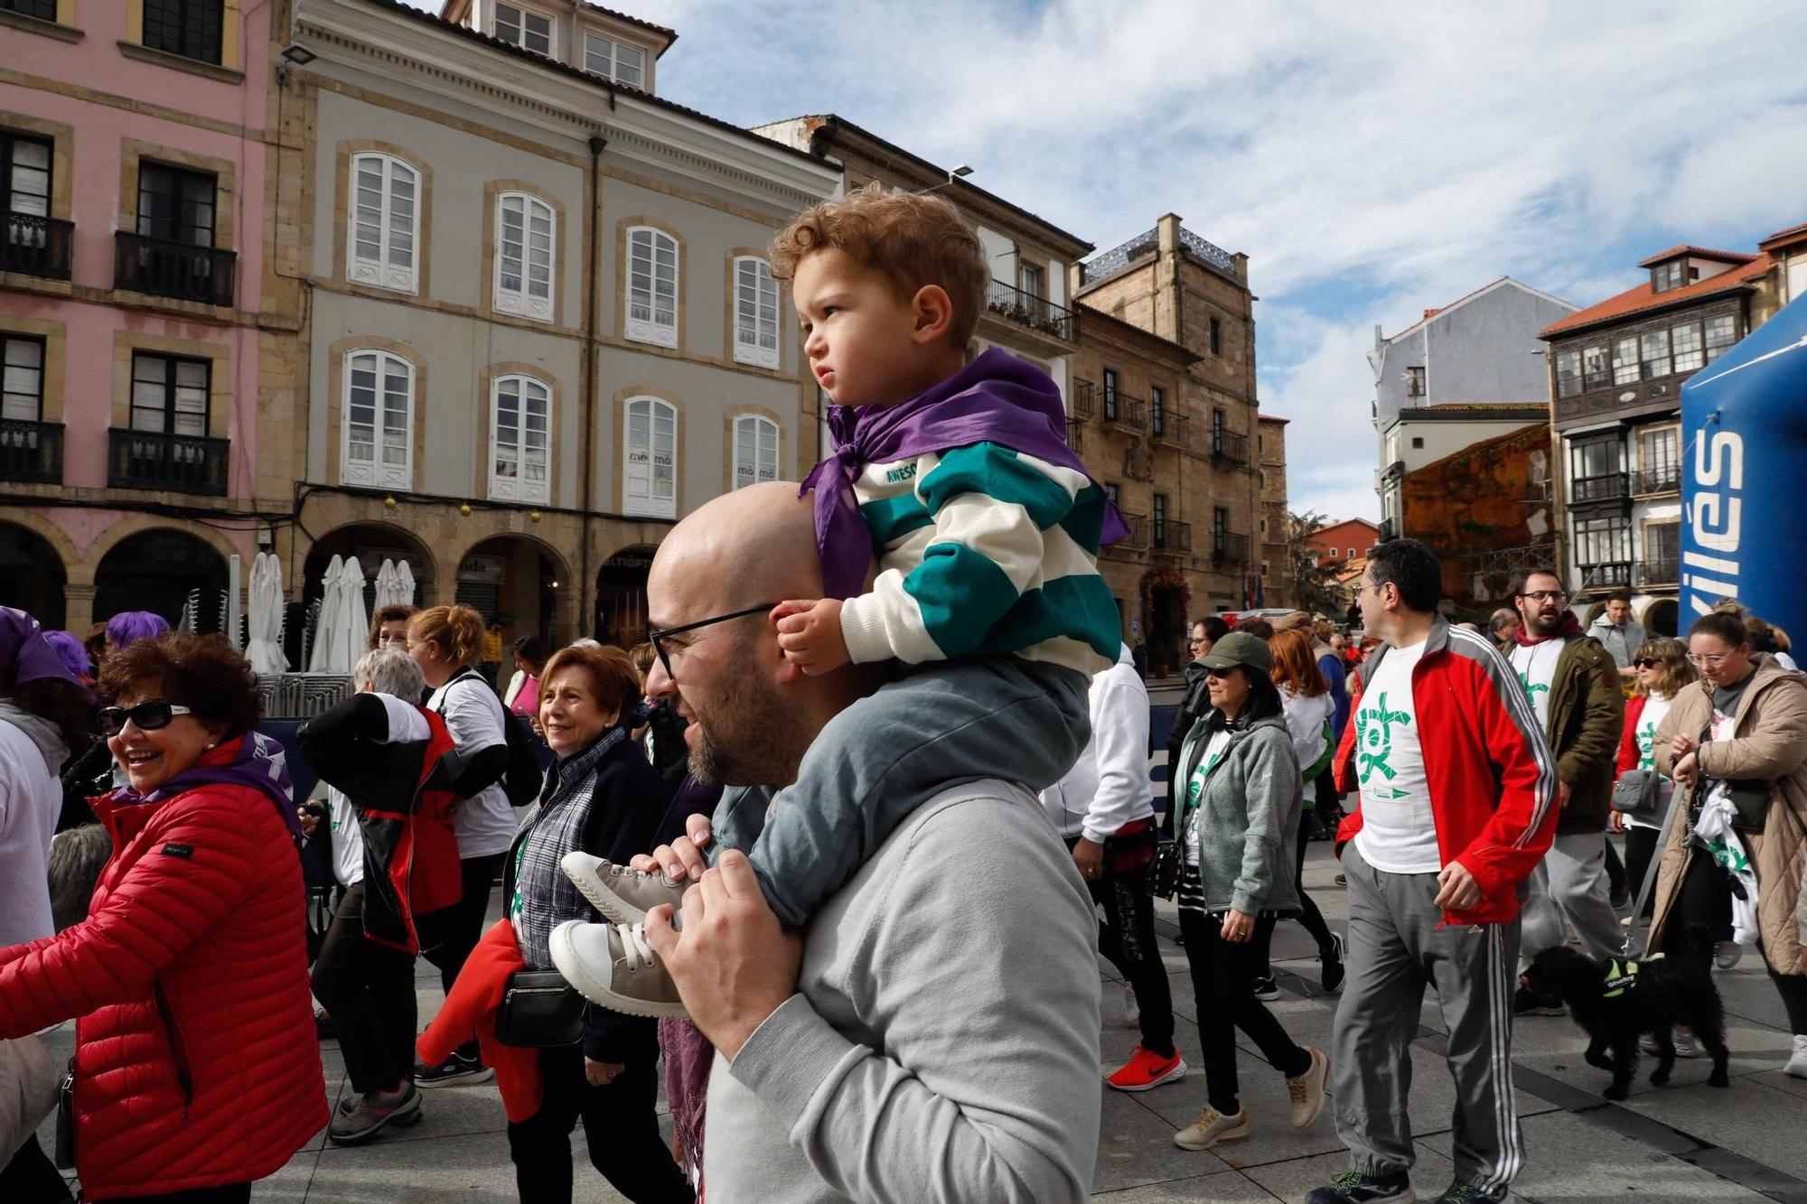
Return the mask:
<svg viewBox="0 0 1807 1204">
<path fill-rule="evenodd" d="M 1467 662 L 1469 714 L 1500 783 L 1500 803 L 1475 841 L 1456 853 L 1482 895 L 1498 898 L 1531 877 L 1556 837 L 1556 756 L 1538 714 L 1505 662 Z"/>
</svg>

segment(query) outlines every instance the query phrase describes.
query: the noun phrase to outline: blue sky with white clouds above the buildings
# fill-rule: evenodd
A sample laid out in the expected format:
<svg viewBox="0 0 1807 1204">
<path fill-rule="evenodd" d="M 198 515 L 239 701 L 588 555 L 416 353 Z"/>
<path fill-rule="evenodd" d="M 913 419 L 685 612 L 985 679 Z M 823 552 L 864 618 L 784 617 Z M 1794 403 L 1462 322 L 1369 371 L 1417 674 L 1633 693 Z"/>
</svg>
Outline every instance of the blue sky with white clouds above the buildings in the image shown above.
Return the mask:
<svg viewBox="0 0 1807 1204">
<path fill-rule="evenodd" d="M 410 0 L 437 7 L 432 0 Z M 670 99 L 838 112 L 1099 249 L 1249 255 L 1294 510 L 1377 517 L 1388 333 L 1502 275 L 1581 306 L 1807 221 L 1807 0 L 611 0 Z"/>
</svg>

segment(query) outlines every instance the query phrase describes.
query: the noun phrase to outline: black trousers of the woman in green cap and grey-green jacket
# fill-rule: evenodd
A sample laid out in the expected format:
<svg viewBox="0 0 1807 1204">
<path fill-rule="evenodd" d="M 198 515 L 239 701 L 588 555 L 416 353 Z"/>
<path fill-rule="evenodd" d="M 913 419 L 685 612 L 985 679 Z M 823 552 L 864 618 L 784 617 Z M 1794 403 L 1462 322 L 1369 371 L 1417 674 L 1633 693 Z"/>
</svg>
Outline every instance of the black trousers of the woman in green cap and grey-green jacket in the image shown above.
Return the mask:
<svg viewBox="0 0 1807 1204">
<path fill-rule="evenodd" d="M 1312 1054 L 1299 1047 L 1270 1011 L 1254 998 L 1258 951 L 1254 942 L 1240 945 L 1223 940 L 1223 922 L 1203 911 L 1180 911 L 1185 960 L 1193 969 L 1193 996 L 1198 1002 L 1198 1045 L 1205 1061 L 1205 1094 L 1223 1115 L 1241 1112 L 1236 1077 L 1236 1030 L 1256 1043 L 1261 1056 L 1294 1077 L 1312 1068 Z"/>
</svg>

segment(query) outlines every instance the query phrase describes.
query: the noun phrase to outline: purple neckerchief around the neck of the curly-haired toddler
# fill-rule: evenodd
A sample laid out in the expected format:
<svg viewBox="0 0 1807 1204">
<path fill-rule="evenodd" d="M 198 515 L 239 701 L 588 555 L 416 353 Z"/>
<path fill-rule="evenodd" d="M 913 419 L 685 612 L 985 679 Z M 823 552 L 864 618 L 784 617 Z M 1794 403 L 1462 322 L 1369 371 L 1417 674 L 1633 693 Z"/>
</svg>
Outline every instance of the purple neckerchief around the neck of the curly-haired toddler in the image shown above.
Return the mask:
<svg viewBox="0 0 1807 1204">
<path fill-rule="evenodd" d="M 810 470 L 799 497 L 815 490 L 815 546 L 822 557 L 822 593 L 829 598 L 858 595 L 873 560 L 873 533 L 853 497 L 853 483 L 866 465 L 997 443 L 1091 479 L 1084 461 L 1066 447 L 1059 387 L 1034 363 L 997 347 L 889 409 L 831 405 L 828 428 L 835 436 L 835 454 Z M 1106 503 L 1099 542 L 1109 544 L 1128 533 L 1117 506 Z"/>
</svg>

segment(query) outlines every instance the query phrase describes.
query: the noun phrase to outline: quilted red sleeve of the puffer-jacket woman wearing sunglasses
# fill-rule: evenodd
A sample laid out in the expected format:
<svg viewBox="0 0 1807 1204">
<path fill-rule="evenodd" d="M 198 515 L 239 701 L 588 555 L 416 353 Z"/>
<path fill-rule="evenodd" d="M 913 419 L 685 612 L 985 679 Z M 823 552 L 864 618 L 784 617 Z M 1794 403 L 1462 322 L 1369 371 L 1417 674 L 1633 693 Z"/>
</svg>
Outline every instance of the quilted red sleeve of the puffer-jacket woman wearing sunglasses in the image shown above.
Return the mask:
<svg viewBox="0 0 1807 1204">
<path fill-rule="evenodd" d="M 202 788 L 172 799 L 94 915 L 0 955 L 0 1038 L 148 996 L 157 974 L 244 900 L 282 819 L 264 799 L 248 810 L 242 794 Z"/>
</svg>

